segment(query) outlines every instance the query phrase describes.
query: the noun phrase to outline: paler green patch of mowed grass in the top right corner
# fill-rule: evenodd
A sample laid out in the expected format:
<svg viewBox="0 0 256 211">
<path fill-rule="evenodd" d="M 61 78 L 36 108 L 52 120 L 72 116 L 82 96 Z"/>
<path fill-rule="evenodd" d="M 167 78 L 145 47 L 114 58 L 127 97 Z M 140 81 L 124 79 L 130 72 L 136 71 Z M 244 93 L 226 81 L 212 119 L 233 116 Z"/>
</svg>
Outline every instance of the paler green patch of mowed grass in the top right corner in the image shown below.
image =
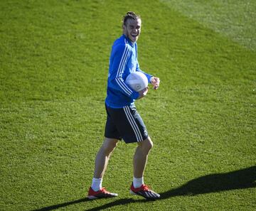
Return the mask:
<svg viewBox="0 0 256 211">
<path fill-rule="evenodd" d="M 161 1 L 240 45 L 256 49 L 255 1 Z"/>
</svg>

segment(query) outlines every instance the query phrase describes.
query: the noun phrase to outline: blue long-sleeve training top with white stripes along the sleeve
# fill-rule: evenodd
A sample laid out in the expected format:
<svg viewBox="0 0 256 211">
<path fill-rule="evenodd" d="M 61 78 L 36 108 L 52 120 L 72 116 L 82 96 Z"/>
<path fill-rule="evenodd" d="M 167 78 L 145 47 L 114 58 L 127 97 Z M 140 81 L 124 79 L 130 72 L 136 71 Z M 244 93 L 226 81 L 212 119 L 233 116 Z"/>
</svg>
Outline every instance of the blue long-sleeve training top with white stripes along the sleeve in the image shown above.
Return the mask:
<svg viewBox="0 0 256 211">
<path fill-rule="evenodd" d="M 122 35 L 114 41 L 110 55 L 110 68 L 107 80 L 107 107 L 122 108 L 134 104 L 139 92 L 132 90 L 125 82 L 131 72 L 140 71 L 137 60 L 137 43 L 132 43 Z M 143 72 L 149 83 L 152 75 Z"/>
</svg>

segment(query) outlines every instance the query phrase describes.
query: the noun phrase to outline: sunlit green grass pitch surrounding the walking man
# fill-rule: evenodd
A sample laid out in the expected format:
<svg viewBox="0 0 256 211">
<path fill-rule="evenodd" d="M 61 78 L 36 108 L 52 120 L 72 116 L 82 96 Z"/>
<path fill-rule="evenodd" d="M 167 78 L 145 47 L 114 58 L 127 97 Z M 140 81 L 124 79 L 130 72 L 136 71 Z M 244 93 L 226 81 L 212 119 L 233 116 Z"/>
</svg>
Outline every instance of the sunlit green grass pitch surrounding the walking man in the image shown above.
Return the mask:
<svg viewBox="0 0 256 211">
<path fill-rule="evenodd" d="M 0 210 L 256 210 L 256 4 L 240 1 L 0 1 Z M 120 142 L 86 198 L 103 139 L 110 49 L 142 16 L 142 70 L 161 78 L 137 109 L 154 141 L 129 194 Z"/>
</svg>

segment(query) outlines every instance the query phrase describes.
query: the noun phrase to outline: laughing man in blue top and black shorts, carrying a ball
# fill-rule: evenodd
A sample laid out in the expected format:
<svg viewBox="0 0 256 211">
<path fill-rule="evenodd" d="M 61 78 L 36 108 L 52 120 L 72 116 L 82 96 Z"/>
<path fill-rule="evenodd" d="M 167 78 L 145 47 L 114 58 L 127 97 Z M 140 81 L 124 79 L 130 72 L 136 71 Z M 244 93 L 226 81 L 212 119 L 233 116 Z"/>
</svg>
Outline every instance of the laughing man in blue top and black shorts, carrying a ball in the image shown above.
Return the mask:
<svg viewBox="0 0 256 211">
<path fill-rule="evenodd" d="M 107 80 L 107 98 L 105 100 L 107 121 L 105 140 L 95 159 L 95 173 L 88 198 L 111 198 L 117 193 L 110 193 L 102 188 L 102 178 L 107 163 L 117 142 L 121 139 L 126 144 L 137 143 L 134 153 L 134 178 L 130 188 L 133 195 L 141 195 L 147 199 L 158 199 L 160 195 L 144 184 L 144 169 L 153 143 L 147 134 L 146 126 L 137 113 L 135 99 L 146 96 L 148 87 L 135 92 L 125 83 L 127 75 L 140 71 L 137 60 L 137 40 L 141 31 L 142 20 L 134 12 L 128 12 L 123 19 L 123 35 L 114 41 L 110 55 L 110 69 Z M 159 88 L 159 78 L 143 72 L 154 89 Z"/>
</svg>

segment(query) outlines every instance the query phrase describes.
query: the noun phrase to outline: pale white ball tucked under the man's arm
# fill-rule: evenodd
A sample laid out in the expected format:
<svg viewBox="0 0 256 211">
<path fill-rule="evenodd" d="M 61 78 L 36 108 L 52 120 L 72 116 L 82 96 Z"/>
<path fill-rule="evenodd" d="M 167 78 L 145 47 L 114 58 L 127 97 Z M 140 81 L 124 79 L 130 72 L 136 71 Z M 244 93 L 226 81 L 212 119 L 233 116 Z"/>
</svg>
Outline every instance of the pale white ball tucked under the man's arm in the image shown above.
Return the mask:
<svg viewBox="0 0 256 211">
<path fill-rule="evenodd" d="M 144 90 L 148 86 L 148 80 L 146 75 L 144 75 L 142 72 L 132 72 L 130 73 L 125 82 L 132 87 L 132 90 L 139 92 L 141 90 Z"/>
</svg>

